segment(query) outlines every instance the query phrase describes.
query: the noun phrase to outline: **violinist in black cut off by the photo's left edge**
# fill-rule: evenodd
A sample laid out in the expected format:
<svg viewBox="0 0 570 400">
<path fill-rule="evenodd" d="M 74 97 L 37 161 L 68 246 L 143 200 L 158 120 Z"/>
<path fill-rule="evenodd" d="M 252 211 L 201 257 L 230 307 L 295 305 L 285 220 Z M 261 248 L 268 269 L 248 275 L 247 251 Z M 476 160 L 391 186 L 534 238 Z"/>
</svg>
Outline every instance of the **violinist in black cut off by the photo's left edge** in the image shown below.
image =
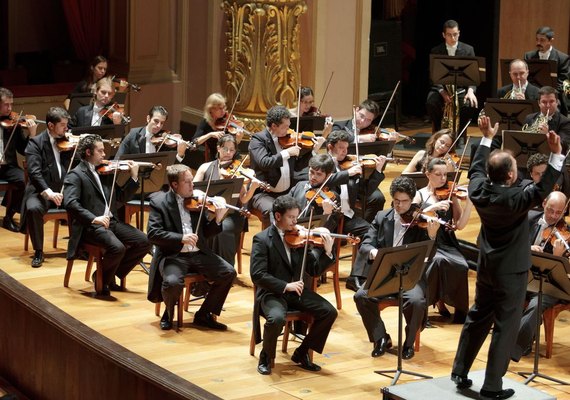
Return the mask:
<svg viewBox="0 0 570 400">
<path fill-rule="evenodd" d="M 12 232 L 18 232 L 20 227 L 14 221 L 14 214 L 19 213 L 22 208 L 24 194 L 24 170 L 18 164 L 16 153 L 24 154 L 28 144 L 25 131 L 19 123 L 12 124 L 12 105 L 14 104 L 14 94 L 3 87 L 0 87 L 0 179 L 16 185 L 16 190 L 12 190 L 11 204 L 8 207 L 7 196 L 4 195 L 2 205 L 6 207 L 6 215 L 2 220 L 2 227 Z M 3 124 L 12 127 L 4 127 Z M 24 121 L 28 129 L 29 138 L 36 136 L 37 125 L 33 119 Z M 20 221 L 22 223 L 22 221 Z"/>
</svg>

